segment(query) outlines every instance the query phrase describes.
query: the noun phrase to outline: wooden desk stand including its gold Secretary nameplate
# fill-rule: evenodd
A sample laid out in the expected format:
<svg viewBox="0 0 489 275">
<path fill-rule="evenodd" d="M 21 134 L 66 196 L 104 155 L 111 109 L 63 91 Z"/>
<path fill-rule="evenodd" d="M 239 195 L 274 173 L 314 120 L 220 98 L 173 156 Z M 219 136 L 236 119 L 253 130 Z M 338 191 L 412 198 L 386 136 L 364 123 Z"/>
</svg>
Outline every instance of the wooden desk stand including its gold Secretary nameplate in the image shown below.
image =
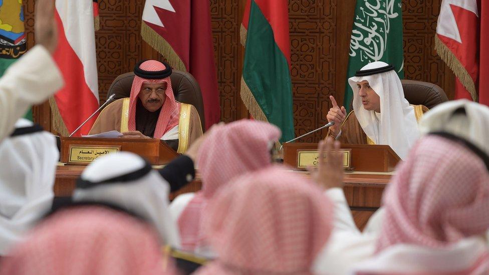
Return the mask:
<svg viewBox="0 0 489 275">
<path fill-rule="evenodd" d="M 91 159 L 112 151 L 138 154 L 152 165 L 167 164 L 178 156 L 175 150 L 159 139 L 61 137 L 61 162 L 67 164 L 88 165 Z"/>
</svg>

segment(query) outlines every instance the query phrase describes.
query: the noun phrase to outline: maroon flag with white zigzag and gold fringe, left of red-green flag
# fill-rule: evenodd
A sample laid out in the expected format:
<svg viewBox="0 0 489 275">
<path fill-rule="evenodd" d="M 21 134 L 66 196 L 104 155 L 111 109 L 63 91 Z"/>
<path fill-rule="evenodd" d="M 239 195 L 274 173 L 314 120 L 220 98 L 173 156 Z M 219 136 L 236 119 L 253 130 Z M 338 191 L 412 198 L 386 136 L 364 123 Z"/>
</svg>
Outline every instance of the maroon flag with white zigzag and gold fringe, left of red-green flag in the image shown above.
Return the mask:
<svg viewBox="0 0 489 275">
<path fill-rule="evenodd" d="M 174 69 L 197 80 L 206 129 L 220 120 L 209 5 L 203 0 L 146 0 L 141 24 L 143 40 Z"/>
</svg>

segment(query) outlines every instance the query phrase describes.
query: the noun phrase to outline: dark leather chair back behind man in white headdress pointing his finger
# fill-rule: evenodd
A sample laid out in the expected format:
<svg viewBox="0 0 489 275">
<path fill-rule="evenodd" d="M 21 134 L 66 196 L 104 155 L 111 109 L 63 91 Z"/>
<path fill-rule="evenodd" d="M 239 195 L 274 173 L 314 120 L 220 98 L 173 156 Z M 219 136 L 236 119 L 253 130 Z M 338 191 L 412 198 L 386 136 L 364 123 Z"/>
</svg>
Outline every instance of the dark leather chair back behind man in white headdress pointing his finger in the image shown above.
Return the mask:
<svg viewBox="0 0 489 275">
<path fill-rule="evenodd" d="M 438 85 L 417 80 L 402 79 L 404 97 L 410 104 L 424 105 L 431 109 L 448 101 L 445 92 Z"/>
</svg>

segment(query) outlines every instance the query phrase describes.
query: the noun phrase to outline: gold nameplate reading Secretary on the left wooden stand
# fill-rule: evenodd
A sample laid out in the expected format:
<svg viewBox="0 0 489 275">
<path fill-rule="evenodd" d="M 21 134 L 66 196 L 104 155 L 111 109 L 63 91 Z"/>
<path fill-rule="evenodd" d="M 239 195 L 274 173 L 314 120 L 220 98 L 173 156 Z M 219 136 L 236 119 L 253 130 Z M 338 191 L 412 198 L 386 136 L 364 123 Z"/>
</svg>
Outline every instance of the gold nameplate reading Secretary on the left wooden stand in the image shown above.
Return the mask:
<svg viewBox="0 0 489 275">
<path fill-rule="evenodd" d="M 97 145 L 70 145 L 68 163 L 88 164 L 101 156 L 117 153 L 121 146 L 97 146 Z"/>
</svg>

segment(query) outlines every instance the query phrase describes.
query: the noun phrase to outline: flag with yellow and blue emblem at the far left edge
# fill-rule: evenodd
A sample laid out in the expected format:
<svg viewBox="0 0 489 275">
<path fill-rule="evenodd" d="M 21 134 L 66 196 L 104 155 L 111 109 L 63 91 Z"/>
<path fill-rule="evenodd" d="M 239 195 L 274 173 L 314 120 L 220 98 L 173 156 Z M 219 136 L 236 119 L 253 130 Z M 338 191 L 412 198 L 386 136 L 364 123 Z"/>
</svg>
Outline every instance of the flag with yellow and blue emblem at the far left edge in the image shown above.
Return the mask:
<svg viewBox="0 0 489 275">
<path fill-rule="evenodd" d="M 0 0 L 0 76 L 26 51 L 22 0 Z M 32 120 L 32 110 L 25 118 Z"/>
</svg>

